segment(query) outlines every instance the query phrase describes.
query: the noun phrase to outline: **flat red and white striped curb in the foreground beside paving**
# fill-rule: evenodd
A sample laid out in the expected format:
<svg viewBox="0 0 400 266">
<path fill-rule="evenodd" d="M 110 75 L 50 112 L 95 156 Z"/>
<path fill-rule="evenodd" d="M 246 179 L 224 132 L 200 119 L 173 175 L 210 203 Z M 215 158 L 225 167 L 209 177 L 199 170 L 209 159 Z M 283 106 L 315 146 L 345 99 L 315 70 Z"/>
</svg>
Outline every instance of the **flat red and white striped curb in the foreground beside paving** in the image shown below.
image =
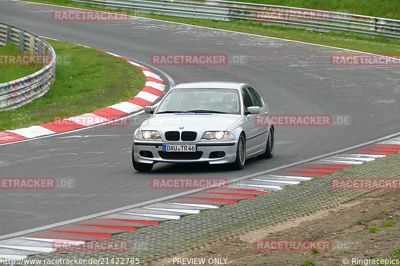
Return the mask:
<svg viewBox="0 0 400 266">
<path fill-rule="evenodd" d="M 238 200 L 253 198 L 283 186 L 372 161 L 400 152 L 400 137 L 364 145 L 340 154 L 287 167 L 238 181 L 226 188 L 211 188 L 183 195 L 160 203 L 116 213 L 99 215 L 74 223 L 29 233 L 21 237 L 0 241 L 0 258 L 25 259 L 29 255 L 53 251 L 53 243 L 73 241 L 76 245 L 106 239 L 113 234 L 135 231 L 136 228 L 154 226 L 161 221 L 179 219 L 182 215 L 197 214 L 201 210 L 233 204 Z M 76 242 L 75 242 L 76 241 Z"/>
</svg>

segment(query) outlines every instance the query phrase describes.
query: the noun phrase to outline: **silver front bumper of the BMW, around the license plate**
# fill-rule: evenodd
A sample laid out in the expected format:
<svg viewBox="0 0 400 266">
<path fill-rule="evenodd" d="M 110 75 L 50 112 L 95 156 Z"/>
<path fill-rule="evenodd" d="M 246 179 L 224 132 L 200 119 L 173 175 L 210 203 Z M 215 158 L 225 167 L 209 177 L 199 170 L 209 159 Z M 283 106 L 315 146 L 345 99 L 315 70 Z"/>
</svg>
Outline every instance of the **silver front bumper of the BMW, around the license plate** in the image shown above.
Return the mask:
<svg viewBox="0 0 400 266">
<path fill-rule="evenodd" d="M 195 144 L 196 152 L 163 152 L 163 144 Z M 133 157 L 138 163 L 233 163 L 237 140 L 200 142 L 133 141 Z M 223 155 L 223 156 L 221 156 Z M 152 158 L 151 158 L 152 156 Z"/>
</svg>

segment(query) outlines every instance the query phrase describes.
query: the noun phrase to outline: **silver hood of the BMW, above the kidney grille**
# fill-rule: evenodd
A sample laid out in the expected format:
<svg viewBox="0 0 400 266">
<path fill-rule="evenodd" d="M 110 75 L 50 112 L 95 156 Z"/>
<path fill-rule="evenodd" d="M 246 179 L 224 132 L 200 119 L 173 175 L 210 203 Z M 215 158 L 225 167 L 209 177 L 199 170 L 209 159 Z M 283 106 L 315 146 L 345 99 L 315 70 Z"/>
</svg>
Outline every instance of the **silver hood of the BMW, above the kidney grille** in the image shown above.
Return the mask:
<svg viewBox="0 0 400 266">
<path fill-rule="evenodd" d="M 224 131 L 240 119 L 235 114 L 155 114 L 141 124 L 141 130 L 157 131 Z M 179 129 L 179 127 L 183 127 Z"/>
</svg>

